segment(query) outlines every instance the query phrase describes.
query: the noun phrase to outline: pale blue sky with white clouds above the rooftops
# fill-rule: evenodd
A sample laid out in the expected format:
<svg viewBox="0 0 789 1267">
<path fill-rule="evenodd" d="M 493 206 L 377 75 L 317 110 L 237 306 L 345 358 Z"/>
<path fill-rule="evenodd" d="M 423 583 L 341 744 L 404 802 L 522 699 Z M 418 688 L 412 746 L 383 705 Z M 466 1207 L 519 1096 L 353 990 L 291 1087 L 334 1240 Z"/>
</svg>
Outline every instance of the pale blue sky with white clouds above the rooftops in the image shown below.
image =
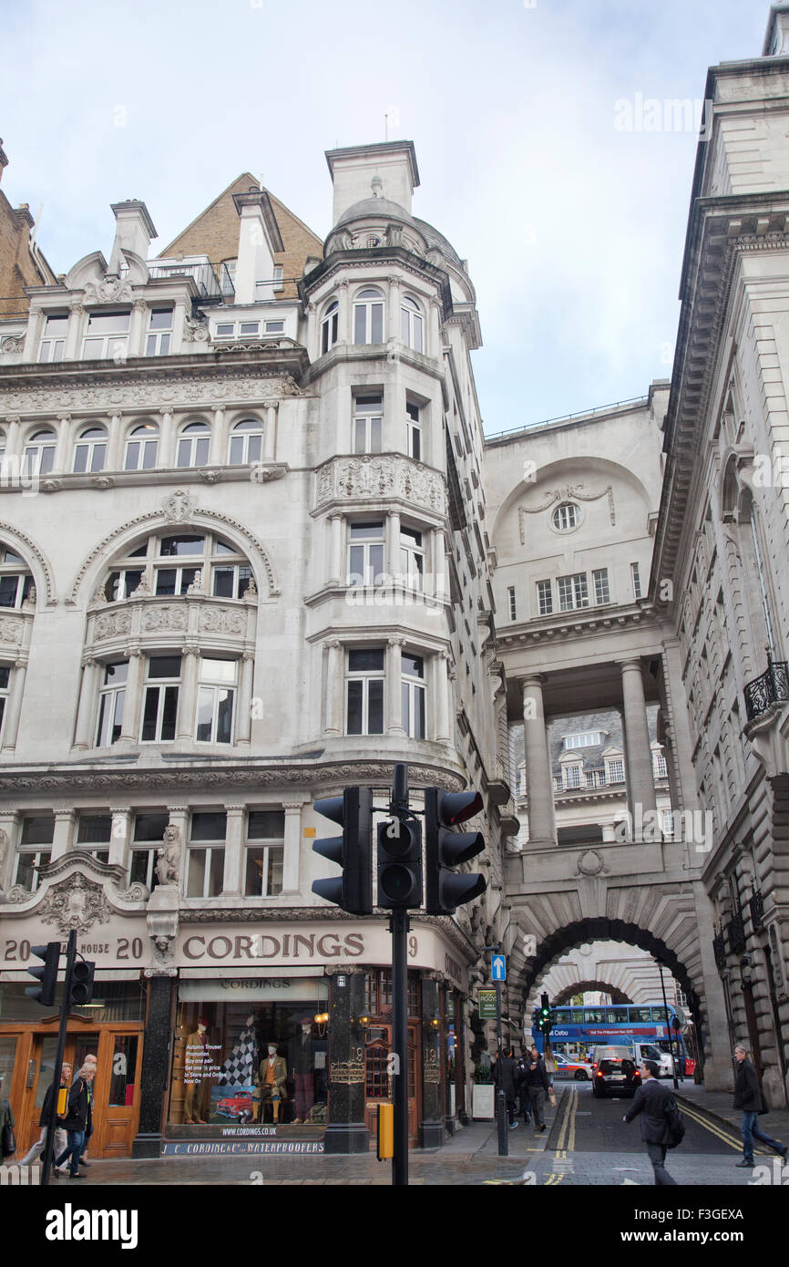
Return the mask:
<svg viewBox="0 0 789 1267">
<path fill-rule="evenodd" d="M 769 8 L 6 3 L 1 188 L 56 272 L 109 257 L 110 203 L 146 203 L 156 252 L 244 171 L 325 237 L 323 152 L 385 139 L 389 111 L 417 150 L 414 214 L 469 261 L 494 435 L 670 378 L 707 68 L 759 56 Z"/>
</svg>

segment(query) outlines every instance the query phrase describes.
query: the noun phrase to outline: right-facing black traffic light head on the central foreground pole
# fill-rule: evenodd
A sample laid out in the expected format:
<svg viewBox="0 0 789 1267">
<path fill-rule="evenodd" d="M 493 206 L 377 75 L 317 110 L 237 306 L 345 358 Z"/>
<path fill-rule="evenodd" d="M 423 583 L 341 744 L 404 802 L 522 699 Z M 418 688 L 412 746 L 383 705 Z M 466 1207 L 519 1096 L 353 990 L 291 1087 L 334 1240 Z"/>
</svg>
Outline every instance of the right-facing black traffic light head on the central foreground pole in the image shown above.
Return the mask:
<svg viewBox="0 0 789 1267">
<path fill-rule="evenodd" d="M 485 848 L 481 831 L 452 831 L 483 808 L 479 792 L 424 792 L 424 835 L 427 868 L 427 914 L 455 915 L 458 906 L 485 892 L 486 881 L 479 872 L 453 872 L 452 868 L 476 858 Z"/>
</svg>

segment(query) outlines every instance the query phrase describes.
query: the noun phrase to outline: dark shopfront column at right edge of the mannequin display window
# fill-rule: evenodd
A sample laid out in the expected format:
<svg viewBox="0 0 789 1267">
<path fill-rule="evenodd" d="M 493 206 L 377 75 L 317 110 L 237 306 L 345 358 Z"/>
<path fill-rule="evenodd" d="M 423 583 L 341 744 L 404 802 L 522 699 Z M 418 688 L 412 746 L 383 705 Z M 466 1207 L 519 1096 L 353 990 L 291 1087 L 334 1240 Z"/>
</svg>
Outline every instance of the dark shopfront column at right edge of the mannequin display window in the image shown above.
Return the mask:
<svg viewBox="0 0 789 1267">
<path fill-rule="evenodd" d="M 365 974 L 334 973 L 329 987 L 329 1124 L 327 1153 L 363 1153 L 370 1148 L 365 1125 Z"/>
</svg>

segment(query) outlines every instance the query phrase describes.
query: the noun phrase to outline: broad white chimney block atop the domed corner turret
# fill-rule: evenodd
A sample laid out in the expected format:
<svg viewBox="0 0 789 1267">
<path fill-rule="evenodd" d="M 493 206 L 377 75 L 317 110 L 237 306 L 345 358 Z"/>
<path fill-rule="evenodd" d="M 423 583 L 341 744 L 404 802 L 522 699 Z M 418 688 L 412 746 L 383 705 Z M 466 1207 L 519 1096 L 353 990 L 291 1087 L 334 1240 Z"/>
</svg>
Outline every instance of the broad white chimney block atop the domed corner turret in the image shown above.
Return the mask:
<svg viewBox="0 0 789 1267">
<path fill-rule="evenodd" d="M 413 141 L 382 141 L 371 146 L 328 150 L 334 184 L 333 224 L 355 203 L 371 198 L 372 181 L 377 195 L 404 207 L 410 215 L 412 195 L 419 184 Z"/>
</svg>

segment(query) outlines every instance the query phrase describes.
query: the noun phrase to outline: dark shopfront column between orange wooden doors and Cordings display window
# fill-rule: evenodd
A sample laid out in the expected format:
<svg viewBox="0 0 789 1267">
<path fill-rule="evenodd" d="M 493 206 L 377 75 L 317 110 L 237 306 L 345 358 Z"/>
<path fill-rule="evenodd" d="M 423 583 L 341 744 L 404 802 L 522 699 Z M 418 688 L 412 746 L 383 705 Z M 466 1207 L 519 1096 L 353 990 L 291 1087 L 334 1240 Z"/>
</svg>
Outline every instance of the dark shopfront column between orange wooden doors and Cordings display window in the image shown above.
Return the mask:
<svg viewBox="0 0 789 1267">
<path fill-rule="evenodd" d="M 132 1157 L 161 1157 L 162 1124 L 167 1102 L 170 1052 L 172 1043 L 172 984 L 176 969 L 157 973 L 146 968 L 148 1007 L 143 1039 L 139 1125 L 132 1143 Z"/>
</svg>

